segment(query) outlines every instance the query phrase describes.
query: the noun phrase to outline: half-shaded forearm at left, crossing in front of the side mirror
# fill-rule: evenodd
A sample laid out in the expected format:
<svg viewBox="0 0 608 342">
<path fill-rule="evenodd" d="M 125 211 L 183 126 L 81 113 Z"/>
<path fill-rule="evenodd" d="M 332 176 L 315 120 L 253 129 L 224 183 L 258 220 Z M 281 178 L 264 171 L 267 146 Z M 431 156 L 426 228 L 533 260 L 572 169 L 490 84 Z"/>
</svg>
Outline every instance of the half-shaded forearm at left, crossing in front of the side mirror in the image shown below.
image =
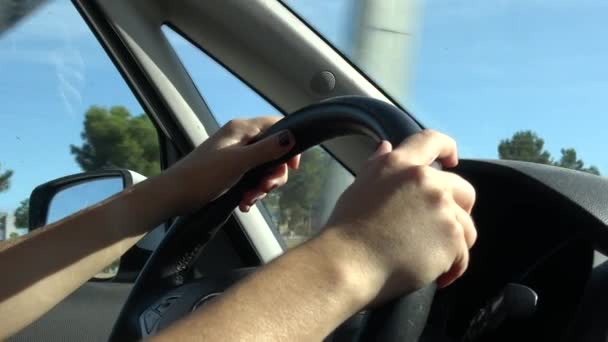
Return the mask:
<svg viewBox="0 0 608 342">
<path fill-rule="evenodd" d="M 25 327 L 174 214 L 171 184 L 147 180 L 16 243 L 0 245 L 0 339 Z M 169 205 L 171 204 L 171 205 Z"/>
</svg>

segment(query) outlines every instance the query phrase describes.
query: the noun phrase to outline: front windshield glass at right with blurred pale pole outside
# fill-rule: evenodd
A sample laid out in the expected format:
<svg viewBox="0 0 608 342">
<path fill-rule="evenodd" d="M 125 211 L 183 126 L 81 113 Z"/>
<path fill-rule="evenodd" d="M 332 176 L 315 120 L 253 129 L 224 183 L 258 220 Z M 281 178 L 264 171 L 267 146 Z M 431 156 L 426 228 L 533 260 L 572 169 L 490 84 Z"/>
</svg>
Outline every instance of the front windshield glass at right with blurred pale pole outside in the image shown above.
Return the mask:
<svg viewBox="0 0 608 342">
<path fill-rule="evenodd" d="M 461 156 L 608 172 L 608 2 L 284 3 Z"/>
</svg>

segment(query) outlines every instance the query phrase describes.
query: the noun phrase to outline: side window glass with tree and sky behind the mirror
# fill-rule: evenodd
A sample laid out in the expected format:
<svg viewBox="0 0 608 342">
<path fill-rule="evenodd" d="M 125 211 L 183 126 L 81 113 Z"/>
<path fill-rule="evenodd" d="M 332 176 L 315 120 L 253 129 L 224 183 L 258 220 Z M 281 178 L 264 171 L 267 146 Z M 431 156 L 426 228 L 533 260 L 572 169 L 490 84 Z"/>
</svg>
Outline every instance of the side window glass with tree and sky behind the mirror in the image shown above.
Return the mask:
<svg viewBox="0 0 608 342">
<path fill-rule="evenodd" d="M 71 1 L 0 1 L 0 75 L 0 240 L 28 233 L 40 184 L 108 168 L 160 172 L 154 125 Z M 102 198 L 117 191 L 104 185 Z"/>
</svg>

